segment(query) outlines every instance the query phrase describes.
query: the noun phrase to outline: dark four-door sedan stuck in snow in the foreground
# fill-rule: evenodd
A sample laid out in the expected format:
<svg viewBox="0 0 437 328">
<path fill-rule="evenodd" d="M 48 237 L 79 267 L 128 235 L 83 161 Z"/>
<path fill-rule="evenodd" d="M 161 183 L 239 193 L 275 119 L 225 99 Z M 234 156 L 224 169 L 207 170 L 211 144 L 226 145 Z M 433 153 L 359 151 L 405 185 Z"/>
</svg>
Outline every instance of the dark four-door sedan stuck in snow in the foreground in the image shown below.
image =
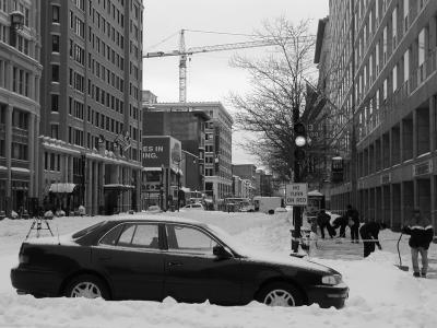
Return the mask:
<svg viewBox="0 0 437 328">
<path fill-rule="evenodd" d="M 117 219 L 25 241 L 11 270 L 19 294 L 240 305 L 344 306 L 339 272 L 305 259 L 250 255 L 218 227 L 178 219 Z"/>
</svg>

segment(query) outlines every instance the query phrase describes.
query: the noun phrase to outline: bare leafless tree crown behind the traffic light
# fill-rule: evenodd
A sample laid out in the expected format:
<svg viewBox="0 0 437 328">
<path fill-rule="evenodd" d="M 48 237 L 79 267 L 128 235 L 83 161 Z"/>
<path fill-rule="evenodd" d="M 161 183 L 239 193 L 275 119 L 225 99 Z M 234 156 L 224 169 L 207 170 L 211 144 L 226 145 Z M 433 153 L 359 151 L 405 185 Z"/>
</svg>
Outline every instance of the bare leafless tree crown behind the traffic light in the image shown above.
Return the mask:
<svg viewBox="0 0 437 328">
<path fill-rule="evenodd" d="M 315 37 L 308 21 L 294 25 L 284 17 L 264 23 L 258 35 L 274 39 L 274 49 L 262 59 L 233 59 L 235 67 L 248 71 L 252 90 L 246 95 L 233 93 L 231 102 L 237 109 L 236 128 L 257 137 L 244 140 L 244 147 L 284 177 L 294 160 L 293 114 L 304 110 L 305 81 L 315 75 Z"/>
</svg>

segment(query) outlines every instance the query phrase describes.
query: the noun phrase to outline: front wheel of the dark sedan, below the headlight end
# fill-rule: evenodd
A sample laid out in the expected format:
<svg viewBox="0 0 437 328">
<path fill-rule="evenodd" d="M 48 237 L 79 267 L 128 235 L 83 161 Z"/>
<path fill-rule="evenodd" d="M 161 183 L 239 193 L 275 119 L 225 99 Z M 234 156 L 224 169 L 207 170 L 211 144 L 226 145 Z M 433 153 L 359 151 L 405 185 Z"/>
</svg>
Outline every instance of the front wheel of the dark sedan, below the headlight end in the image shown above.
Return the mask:
<svg viewBox="0 0 437 328">
<path fill-rule="evenodd" d="M 273 282 L 263 286 L 257 294 L 256 300 L 269 306 L 300 306 L 304 297 L 299 290 L 286 282 Z"/>
</svg>

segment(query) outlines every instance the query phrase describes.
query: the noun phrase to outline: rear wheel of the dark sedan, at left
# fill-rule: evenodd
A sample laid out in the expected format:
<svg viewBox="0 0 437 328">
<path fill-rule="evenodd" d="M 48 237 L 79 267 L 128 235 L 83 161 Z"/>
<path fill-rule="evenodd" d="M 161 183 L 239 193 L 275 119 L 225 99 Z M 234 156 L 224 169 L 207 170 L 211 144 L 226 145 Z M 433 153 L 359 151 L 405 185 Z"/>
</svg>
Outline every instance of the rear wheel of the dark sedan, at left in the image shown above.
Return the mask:
<svg viewBox="0 0 437 328">
<path fill-rule="evenodd" d="M 102 279 L 93 274 L 81 274 L 73 278 L 67 285 L 66 296 L 109 300 L 109 292 Z"/>
</svg>

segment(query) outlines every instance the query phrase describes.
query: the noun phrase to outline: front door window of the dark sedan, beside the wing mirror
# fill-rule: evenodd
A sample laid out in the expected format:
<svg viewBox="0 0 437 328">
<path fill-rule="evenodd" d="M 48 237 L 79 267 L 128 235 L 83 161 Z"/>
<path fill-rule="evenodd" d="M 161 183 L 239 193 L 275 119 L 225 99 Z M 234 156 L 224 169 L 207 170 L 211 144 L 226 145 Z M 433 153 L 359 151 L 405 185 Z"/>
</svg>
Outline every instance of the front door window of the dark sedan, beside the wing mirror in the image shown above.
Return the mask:
<svg viewBox="0 0 437 328">
<path fill-rule="evenodd" d="M 217 243 L 208 234 L 185 225 L 167 225 L 168 250 L 212 255 Z"/>
</svg>

